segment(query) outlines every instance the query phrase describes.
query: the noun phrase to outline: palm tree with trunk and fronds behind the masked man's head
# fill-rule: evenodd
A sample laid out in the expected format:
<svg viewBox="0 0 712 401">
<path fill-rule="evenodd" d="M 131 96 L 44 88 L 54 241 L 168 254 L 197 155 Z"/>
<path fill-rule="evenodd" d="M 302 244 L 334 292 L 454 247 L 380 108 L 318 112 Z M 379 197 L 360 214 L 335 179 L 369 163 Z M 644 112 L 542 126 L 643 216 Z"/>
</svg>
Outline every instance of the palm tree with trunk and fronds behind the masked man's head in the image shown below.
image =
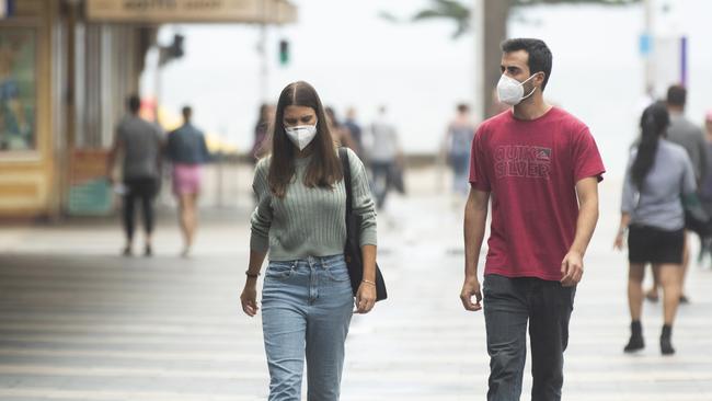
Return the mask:
<svg viewBox="0 0 712 401">
<path fill-rule="evenodd" d="M 539 5 L 539 4 L 602 4 L 602 5 L 628 5 L 640 2 L 641 0 L 430 0 L 430 7 L 416 12 L 412 16 L 413 22 L 421 22 L 434 19 L 444 19 L 455 23 L 456 30 L 452 38 L 461 37 L 471 28 L 471 3 L 472 1 L 484 2 L 484 66 L 497 66 L 502 56 L 499 43 L 507 37 L 507 20 L 513 11 L 519 8 Z M 382 16 L 393 19 L 382 13 Z M 499 77 L 498 68 L 485 68 L 482 73 L 483 82 L 496 82 Z M 485 115 L 493 114 L 493 104 L 489 102 L 492 89 L 484 85 L 483 96 L 486 111 Z"/>
</svg>

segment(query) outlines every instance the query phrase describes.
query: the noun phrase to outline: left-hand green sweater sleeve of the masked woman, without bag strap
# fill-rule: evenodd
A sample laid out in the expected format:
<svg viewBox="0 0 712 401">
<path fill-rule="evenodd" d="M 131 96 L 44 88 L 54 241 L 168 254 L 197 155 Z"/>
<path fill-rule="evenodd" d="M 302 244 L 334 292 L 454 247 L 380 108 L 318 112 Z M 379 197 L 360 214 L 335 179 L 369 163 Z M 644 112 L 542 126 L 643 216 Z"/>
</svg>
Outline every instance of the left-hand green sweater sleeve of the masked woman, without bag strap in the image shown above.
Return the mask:
<svg viewBox="0 0 712 401">
<path fill-rule="evenodd" d="M 267 183 L 267 160 L 257 163 L 252 182 L 252 190 L 257 197 L 257 207 L 252 213 L 252 234 L 250 249 L 267 253 L 269 250 L 269 227 L 272 226 L 272 207 L 269 206 L 272 193 Z"/>
</svg>

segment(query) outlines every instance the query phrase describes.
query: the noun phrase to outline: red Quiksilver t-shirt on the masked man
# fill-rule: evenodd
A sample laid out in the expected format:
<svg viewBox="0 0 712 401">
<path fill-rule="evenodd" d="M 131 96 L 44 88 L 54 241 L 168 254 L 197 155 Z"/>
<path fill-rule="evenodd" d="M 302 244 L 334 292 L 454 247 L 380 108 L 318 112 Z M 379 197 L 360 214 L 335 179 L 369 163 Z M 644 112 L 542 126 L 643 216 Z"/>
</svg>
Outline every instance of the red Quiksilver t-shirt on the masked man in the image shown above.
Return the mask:
<svg viewBox="0 0 712 401">
<path fill-rule="evenodd" d="M 506 111 L 480 125 L 471 154 L 472 187 L 492 194 L 484 274 L 560 280 L 576 231 L 575 185 L 606 172 L 588 127 L 558 107 L 533 121 Z"/>
</svg>

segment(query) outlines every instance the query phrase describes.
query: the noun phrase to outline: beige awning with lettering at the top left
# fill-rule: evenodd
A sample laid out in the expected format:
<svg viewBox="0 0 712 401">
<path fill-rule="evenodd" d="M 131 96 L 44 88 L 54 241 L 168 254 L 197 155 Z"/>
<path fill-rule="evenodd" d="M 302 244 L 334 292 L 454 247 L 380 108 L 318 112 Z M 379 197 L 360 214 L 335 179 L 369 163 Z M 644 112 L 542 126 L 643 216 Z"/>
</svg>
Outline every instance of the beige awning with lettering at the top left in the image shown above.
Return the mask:
<svg viewBox="0 0 712 401">
<path fill-rule="evenodd" d="M 124 23 L 266 23 L 297 21 L 287 0 L 87 0 L 87 18 Z"/>
</svg>

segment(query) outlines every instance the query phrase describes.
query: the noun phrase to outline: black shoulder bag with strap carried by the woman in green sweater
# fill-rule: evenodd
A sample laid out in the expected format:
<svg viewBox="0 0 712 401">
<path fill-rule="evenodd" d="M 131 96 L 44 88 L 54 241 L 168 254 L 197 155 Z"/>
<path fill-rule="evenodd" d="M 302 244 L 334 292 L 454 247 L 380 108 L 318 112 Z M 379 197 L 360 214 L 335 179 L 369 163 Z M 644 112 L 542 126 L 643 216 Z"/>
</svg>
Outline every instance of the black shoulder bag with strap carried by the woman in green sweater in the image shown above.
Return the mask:
<svg viewBox="0 0 712 401">
<path fill-rule="evenodd" d="M 338 158 L 344 173 L 344 186 L 346 188 L 346 245 L 344 247 L 344 259 L 348 267 L 348 276 L 351 277 L 351 286 L 354 296 L 358 291 L 364 278 L 364 260 L 360 249 L 360 230 L 361 230 L 361 216 L 353 210 L 353 187 L 351 182 L 351 164 L 348 163 L 348 153 L 345 148 L 338 148 Z M 376 264 L 376 300 L 383 300 L 388 297 L 386 291 L 386 282 L 381 270 Z"/>
</svg>

